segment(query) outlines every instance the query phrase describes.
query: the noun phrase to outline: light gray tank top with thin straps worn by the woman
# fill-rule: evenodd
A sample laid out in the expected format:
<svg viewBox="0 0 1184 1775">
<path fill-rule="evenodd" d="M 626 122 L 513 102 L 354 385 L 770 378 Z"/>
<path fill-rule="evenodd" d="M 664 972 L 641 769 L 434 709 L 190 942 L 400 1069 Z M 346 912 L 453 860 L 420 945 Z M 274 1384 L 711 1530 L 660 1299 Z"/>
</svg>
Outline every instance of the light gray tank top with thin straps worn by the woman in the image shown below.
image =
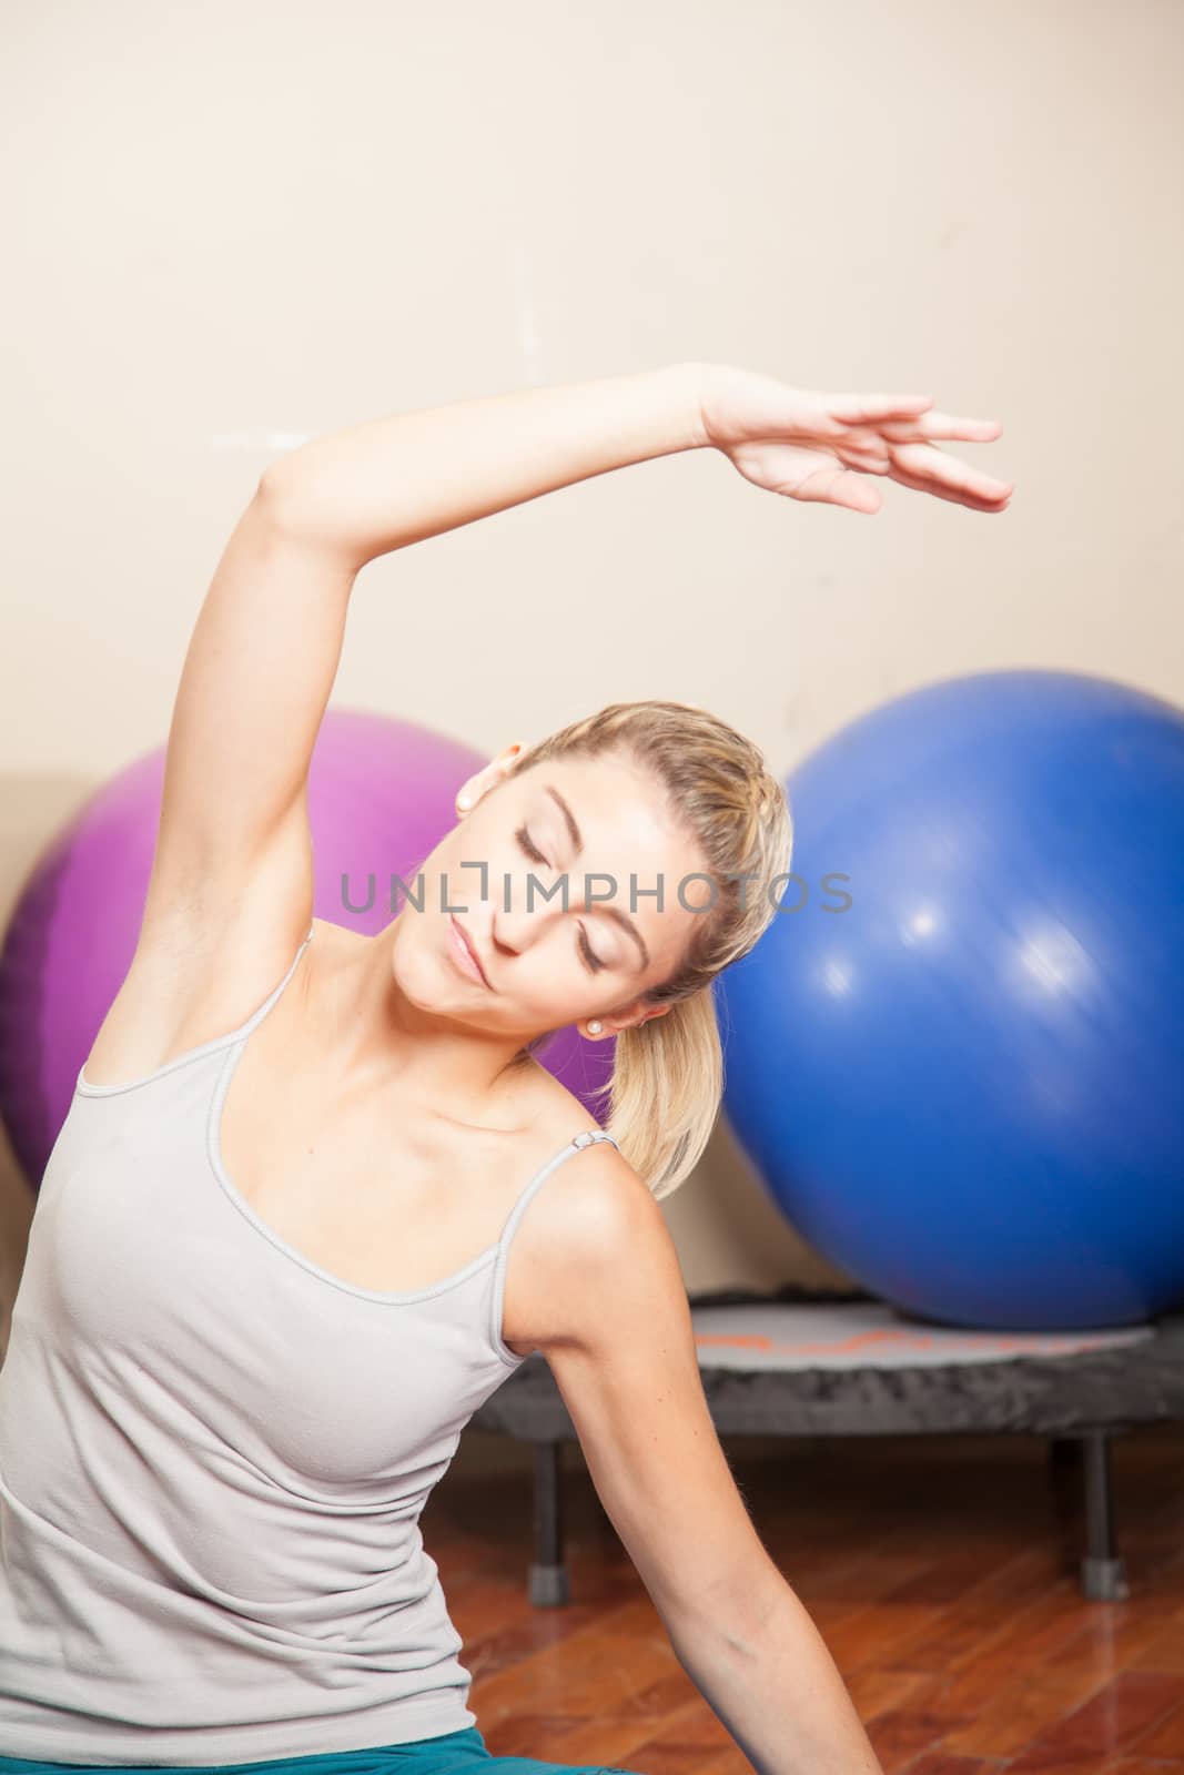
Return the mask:
<svg viewBox="0 0 1184 1775">
<path fill-rule="evenodd" d="M 250 1763 L 474 1725 L 419 1516 L 502 1342 L 515 1228 L 414 1292 L 353 1287 L 225 1175 L 250 1031 L 78 1085 L 0 1369 L 0 1752 Z M 616 1145 L 616 1141 L 612 1141 Z"/>
</svg>

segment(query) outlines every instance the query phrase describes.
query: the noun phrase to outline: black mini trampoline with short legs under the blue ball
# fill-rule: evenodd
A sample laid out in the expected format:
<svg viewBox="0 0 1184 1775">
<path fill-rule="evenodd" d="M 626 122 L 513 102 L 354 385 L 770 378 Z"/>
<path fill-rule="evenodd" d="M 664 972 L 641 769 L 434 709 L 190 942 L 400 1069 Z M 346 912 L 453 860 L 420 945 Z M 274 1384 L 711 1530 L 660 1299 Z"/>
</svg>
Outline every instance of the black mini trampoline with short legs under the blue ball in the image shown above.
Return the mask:
<svg viewBox="0 0 1184 1775">
<path fill-rule="evenodd" d="M 964 1331 L 864 1292 L 691 1298 L 703 1392 L 724 1436 L 1047 1436 L 1081 1473 L 1081 1592 L 1129 1596 L 1115 1535 L 1111 1440 L 1184 1420 L 1184 1312 L 1104 1331 Z M 469 1420 L 534 1445 L 538 1608 L 568 1601 L 559 1456 L 579 1441 L 545 1358 L 527 1356 Z"/>
</svg>

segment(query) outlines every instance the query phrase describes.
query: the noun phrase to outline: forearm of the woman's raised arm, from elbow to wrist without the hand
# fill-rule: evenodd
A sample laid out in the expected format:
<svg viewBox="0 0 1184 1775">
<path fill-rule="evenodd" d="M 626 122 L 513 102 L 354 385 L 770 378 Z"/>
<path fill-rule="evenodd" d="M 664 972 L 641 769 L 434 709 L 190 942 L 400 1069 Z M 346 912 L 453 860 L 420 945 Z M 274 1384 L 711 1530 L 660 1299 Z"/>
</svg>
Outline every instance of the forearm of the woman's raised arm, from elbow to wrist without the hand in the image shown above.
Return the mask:
<svg viewBox="0 0 1184 1775">
<path fill-rule="evenodd" d="M 524 389 L 371 419 L 279 458 L 289 531 L 362 566 L 611 469 L 706 444 L 699 366 Z"/>
</svg>

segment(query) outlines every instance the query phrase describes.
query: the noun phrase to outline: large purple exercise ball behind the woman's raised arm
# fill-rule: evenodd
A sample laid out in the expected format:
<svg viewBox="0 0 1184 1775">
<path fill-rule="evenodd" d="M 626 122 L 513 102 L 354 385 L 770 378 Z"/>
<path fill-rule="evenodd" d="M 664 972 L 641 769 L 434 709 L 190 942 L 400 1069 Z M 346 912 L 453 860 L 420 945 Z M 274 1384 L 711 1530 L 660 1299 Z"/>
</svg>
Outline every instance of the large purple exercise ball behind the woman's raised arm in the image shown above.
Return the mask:
<svg viewBox="0 0 1184 1775">
<path fill-rule="evenodd" d="M 309 769 L 316 918 L 362 935 L 389 925 L 405 905 L 403 891 L 392 903 L 391 877 L 415 889 L 417 870 L 456 824 L 458 786 L 485 763 L 415 722 L 330 708 Z M 0 1118 L 34 1187 L 135 953 L 163 776 L 162 746 L 103 785 L 37 859 L 4 935 Z M 469 903 L 470 880 L 449 882 L 449 893 Z M 591 1093 L 609 1079 L 611 1042 L 566 1028 L 538 1060 L 604 1120 L 605 1100 Z"/>
</svg>

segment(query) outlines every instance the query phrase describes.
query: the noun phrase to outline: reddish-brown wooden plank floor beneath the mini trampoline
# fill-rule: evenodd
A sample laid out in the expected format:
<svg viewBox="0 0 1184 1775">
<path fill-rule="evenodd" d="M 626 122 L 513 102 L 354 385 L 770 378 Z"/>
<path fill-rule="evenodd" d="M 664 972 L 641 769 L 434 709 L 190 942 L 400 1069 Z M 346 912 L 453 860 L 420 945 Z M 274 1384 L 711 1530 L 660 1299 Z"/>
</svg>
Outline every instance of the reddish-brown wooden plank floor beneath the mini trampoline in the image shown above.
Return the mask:
<svg viewBox="0 0 1184 1775">
<path fill-rule="evenodd" d="M 1081 1523 L 1037 1438 L 724 1447 L 888 1775 L 1184 1775 L 1184 1429 L 1113 1447 L 1124 1603 L 1081 1596 Z M 470 1431 L 422 1516 L 488 1748 L 751 1775 L 678 1665 L 575 1445 L 563 1500 L 566 1608 L 525 1596 L 527 1448 Z"/>
</svg>

